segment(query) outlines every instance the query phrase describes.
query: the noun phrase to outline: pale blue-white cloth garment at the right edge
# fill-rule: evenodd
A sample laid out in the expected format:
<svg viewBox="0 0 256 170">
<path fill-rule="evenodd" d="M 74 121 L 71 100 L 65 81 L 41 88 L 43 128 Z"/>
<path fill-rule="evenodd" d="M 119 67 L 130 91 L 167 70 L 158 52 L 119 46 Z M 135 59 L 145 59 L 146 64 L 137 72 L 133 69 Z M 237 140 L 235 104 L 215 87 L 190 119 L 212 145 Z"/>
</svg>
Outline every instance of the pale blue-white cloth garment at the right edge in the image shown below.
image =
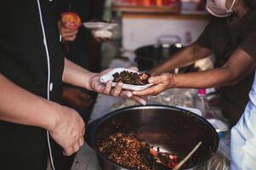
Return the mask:
<svg viewBox="0 0 256 170">
<path fill-rule="evenodd" d="M 256 169 L 256 72 L 249 102 L 231 130 L 231 170 Z"/>
</svg>

